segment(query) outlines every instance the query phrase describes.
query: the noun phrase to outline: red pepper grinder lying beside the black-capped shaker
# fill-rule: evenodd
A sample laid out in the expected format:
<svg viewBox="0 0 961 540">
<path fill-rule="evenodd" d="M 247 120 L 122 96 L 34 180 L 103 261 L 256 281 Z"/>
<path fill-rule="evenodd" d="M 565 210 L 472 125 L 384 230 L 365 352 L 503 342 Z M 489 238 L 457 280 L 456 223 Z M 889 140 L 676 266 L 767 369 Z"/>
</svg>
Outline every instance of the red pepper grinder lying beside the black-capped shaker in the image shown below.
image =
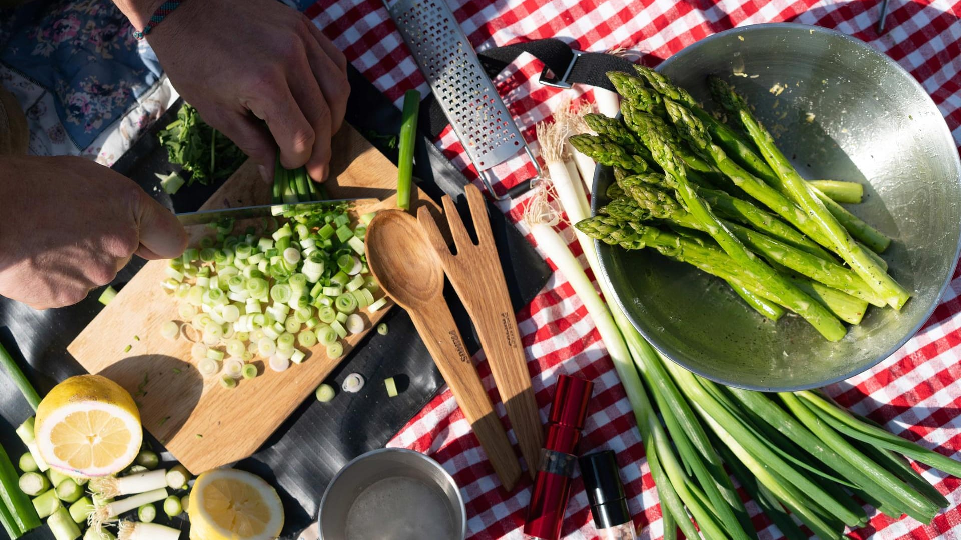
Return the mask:
<svg viewBox="0 0 961 540">
<path fill-rule="evenodd" d="M 524 525 L 525 540 L 557 540 L 564 522 L 564 510 L 570 495 L 571 477 L 578 462 L 575 449 L 580 430 L 587 418 L 587 403 L 594 383 L 577 377 L 557 378 L 554 404 L 548 419 L 547 441 L 530 497 L 528 521 Z"/>
</svg>

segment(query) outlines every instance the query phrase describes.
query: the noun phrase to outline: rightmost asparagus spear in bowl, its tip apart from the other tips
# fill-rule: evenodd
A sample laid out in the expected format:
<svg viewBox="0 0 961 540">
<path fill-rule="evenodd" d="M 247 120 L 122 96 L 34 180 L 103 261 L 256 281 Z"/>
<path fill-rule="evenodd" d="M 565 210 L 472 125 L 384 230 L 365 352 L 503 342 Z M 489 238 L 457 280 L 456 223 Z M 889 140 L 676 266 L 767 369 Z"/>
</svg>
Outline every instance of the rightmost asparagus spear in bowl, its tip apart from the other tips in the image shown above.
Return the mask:
<svg viewBox="0 0 961 540">
<path fill-rule="evenodd" d="M 904 303 L 910 298 L 907 290 L 888 276 L 877 265 L 875 259 L 869 257 L 865 253 L 866 250 L 854 242 L 850 233 L 827 211 L 821 199 L 811 191 L 798 172 L 791 166 L 791 163 L 777 149 L 774 137 L 754 118 L 744 99 L 737 95 L 727 83 L 716 77 L 710 79 L 710 86 L 725 109 L 735 115 L 747 129 L 754 144 L 761 150 L 761 156 L 776 172 L 784 187 L 791 193 L 792 199 L 801 206 L 804 213 L 808 214 L 822 229 L 825 236 L 833 242 L 838 255 L 844 258 L 845 262 L 865 282 L 868 282 L 878 294 L 884 296 L 889 306 L 895 309 L 903 307 Z"/>
</svg>

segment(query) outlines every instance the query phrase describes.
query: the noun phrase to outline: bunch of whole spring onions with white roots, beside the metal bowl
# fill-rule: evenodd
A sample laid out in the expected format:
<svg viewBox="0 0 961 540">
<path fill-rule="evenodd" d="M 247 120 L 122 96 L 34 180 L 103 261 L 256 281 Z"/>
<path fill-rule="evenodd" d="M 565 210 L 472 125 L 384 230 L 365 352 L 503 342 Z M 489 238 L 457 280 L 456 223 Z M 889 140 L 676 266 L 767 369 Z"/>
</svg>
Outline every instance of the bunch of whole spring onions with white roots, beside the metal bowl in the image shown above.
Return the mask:
<svg viewBox="0 0 961 540">
<path fill-rule="evenodd" d="M 557 140 L 539 140 L 542 151 Z M 557 201 L 579 222 L 587 217 L 586 201 L 579 200 L 578 181 L 563 170 L 551 168 Z M 645 443 L 665 538 L 676 538 L 676 528 L 687 538 L 757 538 L 728 471 L 792 540 L 808 537 L 801 526 L 818 538 L 840 540 L 845 528 L 868 523 L 866 505 L 923 523 L 948 506 L 904 457 L 954 476 L 961 476 L 961 463 L 882 430 L 819 392 L 726 388 L 658 355 L 619 307 L 604 305 L 546 218 L 552 212 L 541 192 L 526 222 L 598 326 Z M 590 238 L 582 231 L 576 235 L 595 275 L 602 275 Z M 598 284 L 610 298 L 607 283 Z"/>
</svg>

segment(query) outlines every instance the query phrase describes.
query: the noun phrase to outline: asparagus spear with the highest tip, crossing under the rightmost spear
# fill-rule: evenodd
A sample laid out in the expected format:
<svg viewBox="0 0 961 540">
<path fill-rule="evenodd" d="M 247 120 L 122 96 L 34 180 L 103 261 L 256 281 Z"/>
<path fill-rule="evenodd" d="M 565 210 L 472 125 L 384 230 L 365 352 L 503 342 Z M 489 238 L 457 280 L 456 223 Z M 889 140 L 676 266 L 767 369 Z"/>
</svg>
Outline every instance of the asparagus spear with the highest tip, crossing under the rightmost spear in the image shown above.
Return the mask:
<svg viewBox="0 0 961 540">
<path fill-rule="evenodd" d="M 690 109 L 695 116 L 703 122 L 704 126 L 707 127 L 708 132 L 715 137 L 717 143 L 724 148 L 727 153 L 739 160 L 741 164 L 747 167 L 755 176 L 776 187 L 788 197 L 791 196 L 786 189 L 782 188 L 783 185 L 775 171 L 757 155 L 752 146 L 748 144 L 741 135 L 738 135 L 727 125 L 718 121 L 706 110 L 703 110 L 686 90 L 675 86 L 670 79 L 651 68 L 637 65 L 634 66 L 634 69 L 653 89 Z M 887 237 L 884 233 L 877 231 L 862 219 L 850 213 L 848 209 L 832 201 L 818 188 L 815 187 L 814 192 L 825 204 L 827 210 L 831 212 L 831 215 L 833 215 L 854 238 L 870 247 L 876 253 L 883 253 L 884 250 L 891 245 L 891 238 Z"/>
</svg>

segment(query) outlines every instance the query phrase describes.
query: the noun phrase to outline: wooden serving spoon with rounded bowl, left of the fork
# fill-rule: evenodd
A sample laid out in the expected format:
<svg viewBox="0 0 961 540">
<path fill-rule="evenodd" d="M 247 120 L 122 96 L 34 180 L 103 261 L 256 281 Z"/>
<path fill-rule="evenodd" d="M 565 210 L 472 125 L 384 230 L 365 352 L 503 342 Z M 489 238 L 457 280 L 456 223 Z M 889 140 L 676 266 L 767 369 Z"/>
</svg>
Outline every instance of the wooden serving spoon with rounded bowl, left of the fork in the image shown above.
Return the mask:
<svg viewBox="0 0 961 540">
<path fill-rule="evenodd" d="M 367 227 L 366 244 L 371 273 L 407 310 L 494 472 L 510 491 L 521 476 L 521 466 L 444 300 L 444 269 L 436 252 L 417 220 L 401 210 L 378 213 Z"/>
</svg>

